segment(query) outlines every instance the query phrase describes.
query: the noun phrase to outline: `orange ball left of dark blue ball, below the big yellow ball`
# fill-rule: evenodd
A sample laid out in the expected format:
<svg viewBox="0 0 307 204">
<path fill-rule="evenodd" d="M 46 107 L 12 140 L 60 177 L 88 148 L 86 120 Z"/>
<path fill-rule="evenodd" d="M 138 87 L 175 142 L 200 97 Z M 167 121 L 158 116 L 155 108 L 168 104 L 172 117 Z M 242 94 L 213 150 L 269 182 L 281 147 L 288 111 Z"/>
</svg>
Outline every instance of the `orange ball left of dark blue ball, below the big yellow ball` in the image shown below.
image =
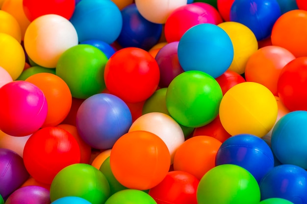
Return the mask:
<svg viewBox="0 0 307 204">
<path fill-rule="evenodd" d="M 212 136 L 194 136 L 183 142 L 174 157 L 174 170 L 185 171 L 201 180 L 215 166 L 222 142 Z"/>
</svg>

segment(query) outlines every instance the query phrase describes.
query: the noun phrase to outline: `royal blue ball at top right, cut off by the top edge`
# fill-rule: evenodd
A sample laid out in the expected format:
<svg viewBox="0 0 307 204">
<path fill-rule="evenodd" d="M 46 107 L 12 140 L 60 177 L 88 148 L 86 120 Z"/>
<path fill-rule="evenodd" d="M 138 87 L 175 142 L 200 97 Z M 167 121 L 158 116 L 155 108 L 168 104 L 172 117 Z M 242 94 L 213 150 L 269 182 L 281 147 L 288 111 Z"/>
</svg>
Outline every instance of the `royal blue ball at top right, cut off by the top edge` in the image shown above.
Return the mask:
<svg viewBox="0 0 307 204">
<path fill-rule="evenodd" d="M 235 0 L 230 9 L 230 21 L 249 27 L 258 41 L 271 36 L 281 8 L 276 0 Z"/>
</svg>

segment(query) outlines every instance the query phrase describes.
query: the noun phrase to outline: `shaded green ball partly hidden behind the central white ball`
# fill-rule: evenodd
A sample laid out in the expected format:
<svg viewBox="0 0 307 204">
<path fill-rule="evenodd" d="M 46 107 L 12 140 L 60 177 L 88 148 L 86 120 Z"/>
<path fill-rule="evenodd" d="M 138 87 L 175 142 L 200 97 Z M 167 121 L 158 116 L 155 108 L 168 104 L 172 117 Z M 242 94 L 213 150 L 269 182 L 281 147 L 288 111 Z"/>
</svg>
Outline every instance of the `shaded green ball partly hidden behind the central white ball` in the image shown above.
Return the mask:
<svg viewBox="0 0 307 204">
<path fill-rule="evenodd" d="M 167 88 L 162 88 L 162 89 L 155 91 L 153 95 L 145 101 L 143 109 L 142 109 L 142 114 L 144 115 L 146 113 L 158 112 L 158 113 L 164 113 L 164 114 L 170 115 L 170 113 L 168 113 L 168 110 L 166 108 L 166 100 L 165 100 L 166 91 L 167 91 Z M 189 136 L 194 130 L 194 128 L 186 127 L 181 124 L 179 125 L 182 129 L 182 132 L 185 138 Z"/>
</svg>

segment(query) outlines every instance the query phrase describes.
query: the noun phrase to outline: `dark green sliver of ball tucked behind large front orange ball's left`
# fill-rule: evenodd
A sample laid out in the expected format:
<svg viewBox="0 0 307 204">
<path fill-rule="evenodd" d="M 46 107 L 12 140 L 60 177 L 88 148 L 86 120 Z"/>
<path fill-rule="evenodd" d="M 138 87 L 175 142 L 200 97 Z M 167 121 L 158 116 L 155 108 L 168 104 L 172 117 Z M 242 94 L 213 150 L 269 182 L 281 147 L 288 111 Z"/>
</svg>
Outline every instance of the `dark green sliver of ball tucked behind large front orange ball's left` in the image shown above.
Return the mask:
<svg viewBox="0 0 307 204">
<path fill-rule="evenodd" d="M 102 165 L 99 170 L 103 173 L 103 175 L 105 176 L 106 180 L 110 185 L 110 191 L 111 191 L 110 195 L 113 195 L 118 191 L 127 189 L 127 187 L 123 186 L 120 182 L 117 181 L 117 179 L 115 179 L 114 174 L 112 173 L 110 167 L 110 157 L 108 157 L 102 162 Z"/>
</svg>

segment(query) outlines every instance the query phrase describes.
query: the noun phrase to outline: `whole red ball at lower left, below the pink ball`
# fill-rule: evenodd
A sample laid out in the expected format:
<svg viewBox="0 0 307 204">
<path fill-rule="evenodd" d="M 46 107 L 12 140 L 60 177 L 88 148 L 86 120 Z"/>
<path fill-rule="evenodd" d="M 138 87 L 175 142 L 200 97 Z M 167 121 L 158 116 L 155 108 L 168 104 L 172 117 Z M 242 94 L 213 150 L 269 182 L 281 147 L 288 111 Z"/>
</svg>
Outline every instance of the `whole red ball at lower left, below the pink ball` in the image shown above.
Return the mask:
<svg viewBox="0 0 307 204">
<path fill-rule="evenodd" d="M 61 169 L 80 162 L 80 147 L 68 131 L 58 127 L 42 128 L 26 141 L 24 162 L 31 177 L 51 184 Z"/>
</svg>

